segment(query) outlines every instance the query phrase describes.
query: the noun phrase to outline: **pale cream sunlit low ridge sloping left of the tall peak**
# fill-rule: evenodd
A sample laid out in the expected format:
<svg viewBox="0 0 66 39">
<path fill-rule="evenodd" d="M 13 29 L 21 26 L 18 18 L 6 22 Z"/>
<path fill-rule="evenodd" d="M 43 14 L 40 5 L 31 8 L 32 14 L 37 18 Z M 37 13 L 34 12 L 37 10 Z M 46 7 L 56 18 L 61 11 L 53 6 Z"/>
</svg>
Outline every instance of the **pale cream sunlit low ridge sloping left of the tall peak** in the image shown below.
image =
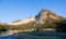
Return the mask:
<svg viewBox="0 0 66 39">
<path fill-rule="evenodd" d="M 34 21 L 35 21 L 35 16 L 31 16 L 31 17 L 25 18 L 25 20 L 13 21 L 10 25 L 28 24 L 28 23 L 34 22 Z"/>
</svg>

